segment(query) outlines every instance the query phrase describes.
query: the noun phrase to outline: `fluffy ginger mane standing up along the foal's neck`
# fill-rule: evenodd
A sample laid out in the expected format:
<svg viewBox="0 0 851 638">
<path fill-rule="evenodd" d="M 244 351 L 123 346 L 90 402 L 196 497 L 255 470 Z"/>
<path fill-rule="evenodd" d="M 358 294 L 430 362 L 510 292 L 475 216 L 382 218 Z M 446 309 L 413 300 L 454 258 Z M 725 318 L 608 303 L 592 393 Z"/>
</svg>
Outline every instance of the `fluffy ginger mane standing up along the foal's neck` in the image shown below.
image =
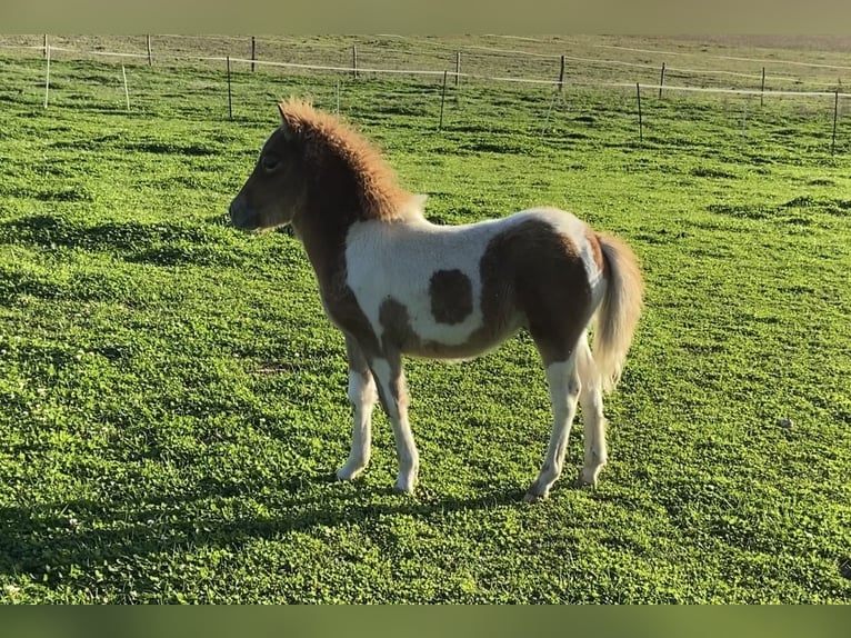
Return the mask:
<svg viewBox="0 0 851 638">
<path fill-rule="evenodd" d="M 422 217 L 426 198 L 399 186 L 396 171 L 379 150 L 341 119 L 317 110 L 307 100 L 289 99 L 278 104 L 283 124 L 304 143 L 304 157 L 317 161 L 333 156 L 349 168 L 358 186 L 362 213 L 382 221 Z"/>
</svg>

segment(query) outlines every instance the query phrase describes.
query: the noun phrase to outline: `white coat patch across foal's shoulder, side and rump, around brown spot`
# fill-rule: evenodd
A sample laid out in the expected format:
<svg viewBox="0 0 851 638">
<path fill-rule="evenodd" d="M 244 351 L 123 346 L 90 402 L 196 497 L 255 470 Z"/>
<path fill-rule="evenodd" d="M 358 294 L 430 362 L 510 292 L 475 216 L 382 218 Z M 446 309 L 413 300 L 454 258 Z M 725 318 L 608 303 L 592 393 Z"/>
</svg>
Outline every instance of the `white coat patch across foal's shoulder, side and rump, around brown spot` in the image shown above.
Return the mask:
<svg viewBox="0 0 851 638">
<path fill-rule="evenodd" d="M 463 226 L 438 226 L 424 218 L 356 222 L 346 240 L 347 283 L 377 336 L 382 333 L 381 305 L 392 298 L 406 307 L 410 327 L 421 340 L 463 345 L 482 325 L 479 263 L 489 242 L 528 220 L 544 221 L 569 237 L 589 277 L 600 279 L 602 273 L 594 263 L 585 223 L 569 212 L 548 208 Z M 470 280 L 472 311 L 462 321 L 442 323 L 432 316 L 429 288 L 437 270 L 460 270 Z"/>
</svg>

